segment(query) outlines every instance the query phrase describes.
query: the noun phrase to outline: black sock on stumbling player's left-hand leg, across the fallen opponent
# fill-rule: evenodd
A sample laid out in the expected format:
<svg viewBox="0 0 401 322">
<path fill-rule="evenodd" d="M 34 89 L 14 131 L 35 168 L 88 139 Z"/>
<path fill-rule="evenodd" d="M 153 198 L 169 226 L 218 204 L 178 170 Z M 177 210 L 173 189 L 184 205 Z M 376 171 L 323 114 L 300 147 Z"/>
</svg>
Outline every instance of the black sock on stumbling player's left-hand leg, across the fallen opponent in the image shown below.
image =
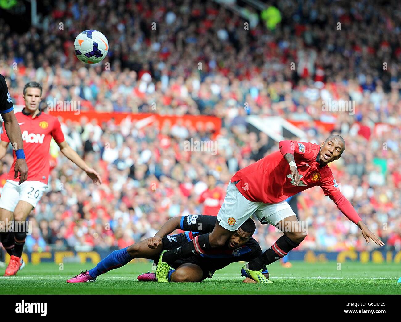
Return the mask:
<svg viewBox="0 0 401 322">
<path fill-rule="evenodd" d="M 187 258 L 192 255 L 199 255 L 205 251 L 211 249 L 209 243 L 209 233 L 205 235 L 198 235 L 188 243 L 176 248 L 171 251 L 166 251 L 163 254 L 163 261 L 168 265 L 171 265 L 179 258 Z"/>
</svg>

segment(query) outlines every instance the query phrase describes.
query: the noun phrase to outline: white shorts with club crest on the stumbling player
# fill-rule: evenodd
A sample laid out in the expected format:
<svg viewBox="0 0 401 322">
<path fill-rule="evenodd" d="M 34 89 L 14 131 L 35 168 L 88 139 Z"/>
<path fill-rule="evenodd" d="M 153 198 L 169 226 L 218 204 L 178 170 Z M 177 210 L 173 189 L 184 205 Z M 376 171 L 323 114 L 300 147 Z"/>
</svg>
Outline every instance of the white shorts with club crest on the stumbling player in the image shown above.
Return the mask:
<svg viewBox="0 0 401 322">
<path fill-rule="evenodd" d="M 255 203 L 245 198 L 233 182 L 227 187 L 227 195 L 217 214 L 219 225 L 230 231 L 236 231 L 253 214 L 262 224 L 277 226 L 284 218 L 295 216 L 287 201 L 280 203 Z"/>
</svg>

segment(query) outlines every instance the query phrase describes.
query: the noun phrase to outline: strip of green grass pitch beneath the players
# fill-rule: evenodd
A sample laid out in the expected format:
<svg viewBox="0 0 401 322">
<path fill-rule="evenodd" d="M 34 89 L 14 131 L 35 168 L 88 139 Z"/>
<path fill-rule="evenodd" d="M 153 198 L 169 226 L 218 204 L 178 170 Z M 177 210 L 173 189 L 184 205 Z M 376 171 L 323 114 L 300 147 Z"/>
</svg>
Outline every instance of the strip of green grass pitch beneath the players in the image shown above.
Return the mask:
<svg viewBox="0 0 401 322">
<path fill-rule="evenodd" d="M 150 261 L 130 263 L 101 275 L 94 283 L 69 284 L 68 277 L 91 264 L 27 264 L 17 276 L 0 277 L 0 294 L 401 294 L 401 265 L 395 263 L 304 263 L 292 268 L 279 263 L 268 266 L 274 284 L 245 284 L 234 263 L 201 283 L 138 282 L 136 277 L 151 269 Z M 2 273 L 4 269 L 0 272 Z"/>
</svg>

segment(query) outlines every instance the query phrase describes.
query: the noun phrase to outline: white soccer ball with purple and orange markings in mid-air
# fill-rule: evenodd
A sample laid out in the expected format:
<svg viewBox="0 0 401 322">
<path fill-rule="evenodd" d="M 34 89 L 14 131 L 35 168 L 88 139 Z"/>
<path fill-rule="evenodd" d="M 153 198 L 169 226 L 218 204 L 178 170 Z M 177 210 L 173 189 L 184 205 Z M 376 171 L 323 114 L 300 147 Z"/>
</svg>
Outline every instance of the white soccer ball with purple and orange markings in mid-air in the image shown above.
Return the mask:
<svg viewBox="0 0 401 322">
<path fill-rule="evenodd" d="M 109 51 L 109 42 L 97 30 L 84 30 L 74 41 L 75 55 L 85 64 L 100 63 Z"/>
</svg>

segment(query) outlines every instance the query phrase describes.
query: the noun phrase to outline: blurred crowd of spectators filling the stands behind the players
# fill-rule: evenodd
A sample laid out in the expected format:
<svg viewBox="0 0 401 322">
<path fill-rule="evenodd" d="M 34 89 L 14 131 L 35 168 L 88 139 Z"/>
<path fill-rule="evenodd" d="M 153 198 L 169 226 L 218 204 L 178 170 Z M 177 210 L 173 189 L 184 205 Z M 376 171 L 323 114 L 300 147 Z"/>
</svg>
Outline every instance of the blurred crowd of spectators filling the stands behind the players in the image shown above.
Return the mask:
<svg viewBox="0 0 401 322">
<path fill-rule="evenodd" d="M 79 101 L 81 111 L 223 120 L 217 136 L 180 123 L 63 122 L 67 140 L 103 184 L 95 187 L 69 160 L 56 157 L 26 250 L 121 248 L 151 237 L 171 217 L 206 214 L 205 207 L 215 215 L 231 176 L 277 150 L 263 132 L 249 132 L 247 115 L 302 121 L 306 134 L 298 140 L 319 144 L 330 132 L 314 121 L 333 122 L 333 133 L 347 144 L 344 156 L 330 164 L 342 192 L 387 249 L 401 250 L 399 4 L 275 5 L 282 21 L 274 30 L 246 28 L 245 20 L 215 2 L 189 0 L 45 0 L 41 26 L 25 34 L 0 20 L 0 74 L 15 104 L 23 104 L 22 89 L 35 80 L 43 86 L 43 109 L 56 99 Z M 86 29 L 108 38 L 109 53 L 98 65 L 84 66 L 74 55 L 74 38 Z M 322 109 L 332 100 L 352 101 L 354 110 Z M 378 132 L 381 123 L 389 131 Z M 190 138 L 216 140 L 217 154 L 185 151 Z M 4 178 L 12 158 L 3 161 Z M 299 200 L 308 237 L 298 250 L 375 248 L 320 188 Z M 262 248 L 280 234 L 257 227 Z"/>
</svg>

